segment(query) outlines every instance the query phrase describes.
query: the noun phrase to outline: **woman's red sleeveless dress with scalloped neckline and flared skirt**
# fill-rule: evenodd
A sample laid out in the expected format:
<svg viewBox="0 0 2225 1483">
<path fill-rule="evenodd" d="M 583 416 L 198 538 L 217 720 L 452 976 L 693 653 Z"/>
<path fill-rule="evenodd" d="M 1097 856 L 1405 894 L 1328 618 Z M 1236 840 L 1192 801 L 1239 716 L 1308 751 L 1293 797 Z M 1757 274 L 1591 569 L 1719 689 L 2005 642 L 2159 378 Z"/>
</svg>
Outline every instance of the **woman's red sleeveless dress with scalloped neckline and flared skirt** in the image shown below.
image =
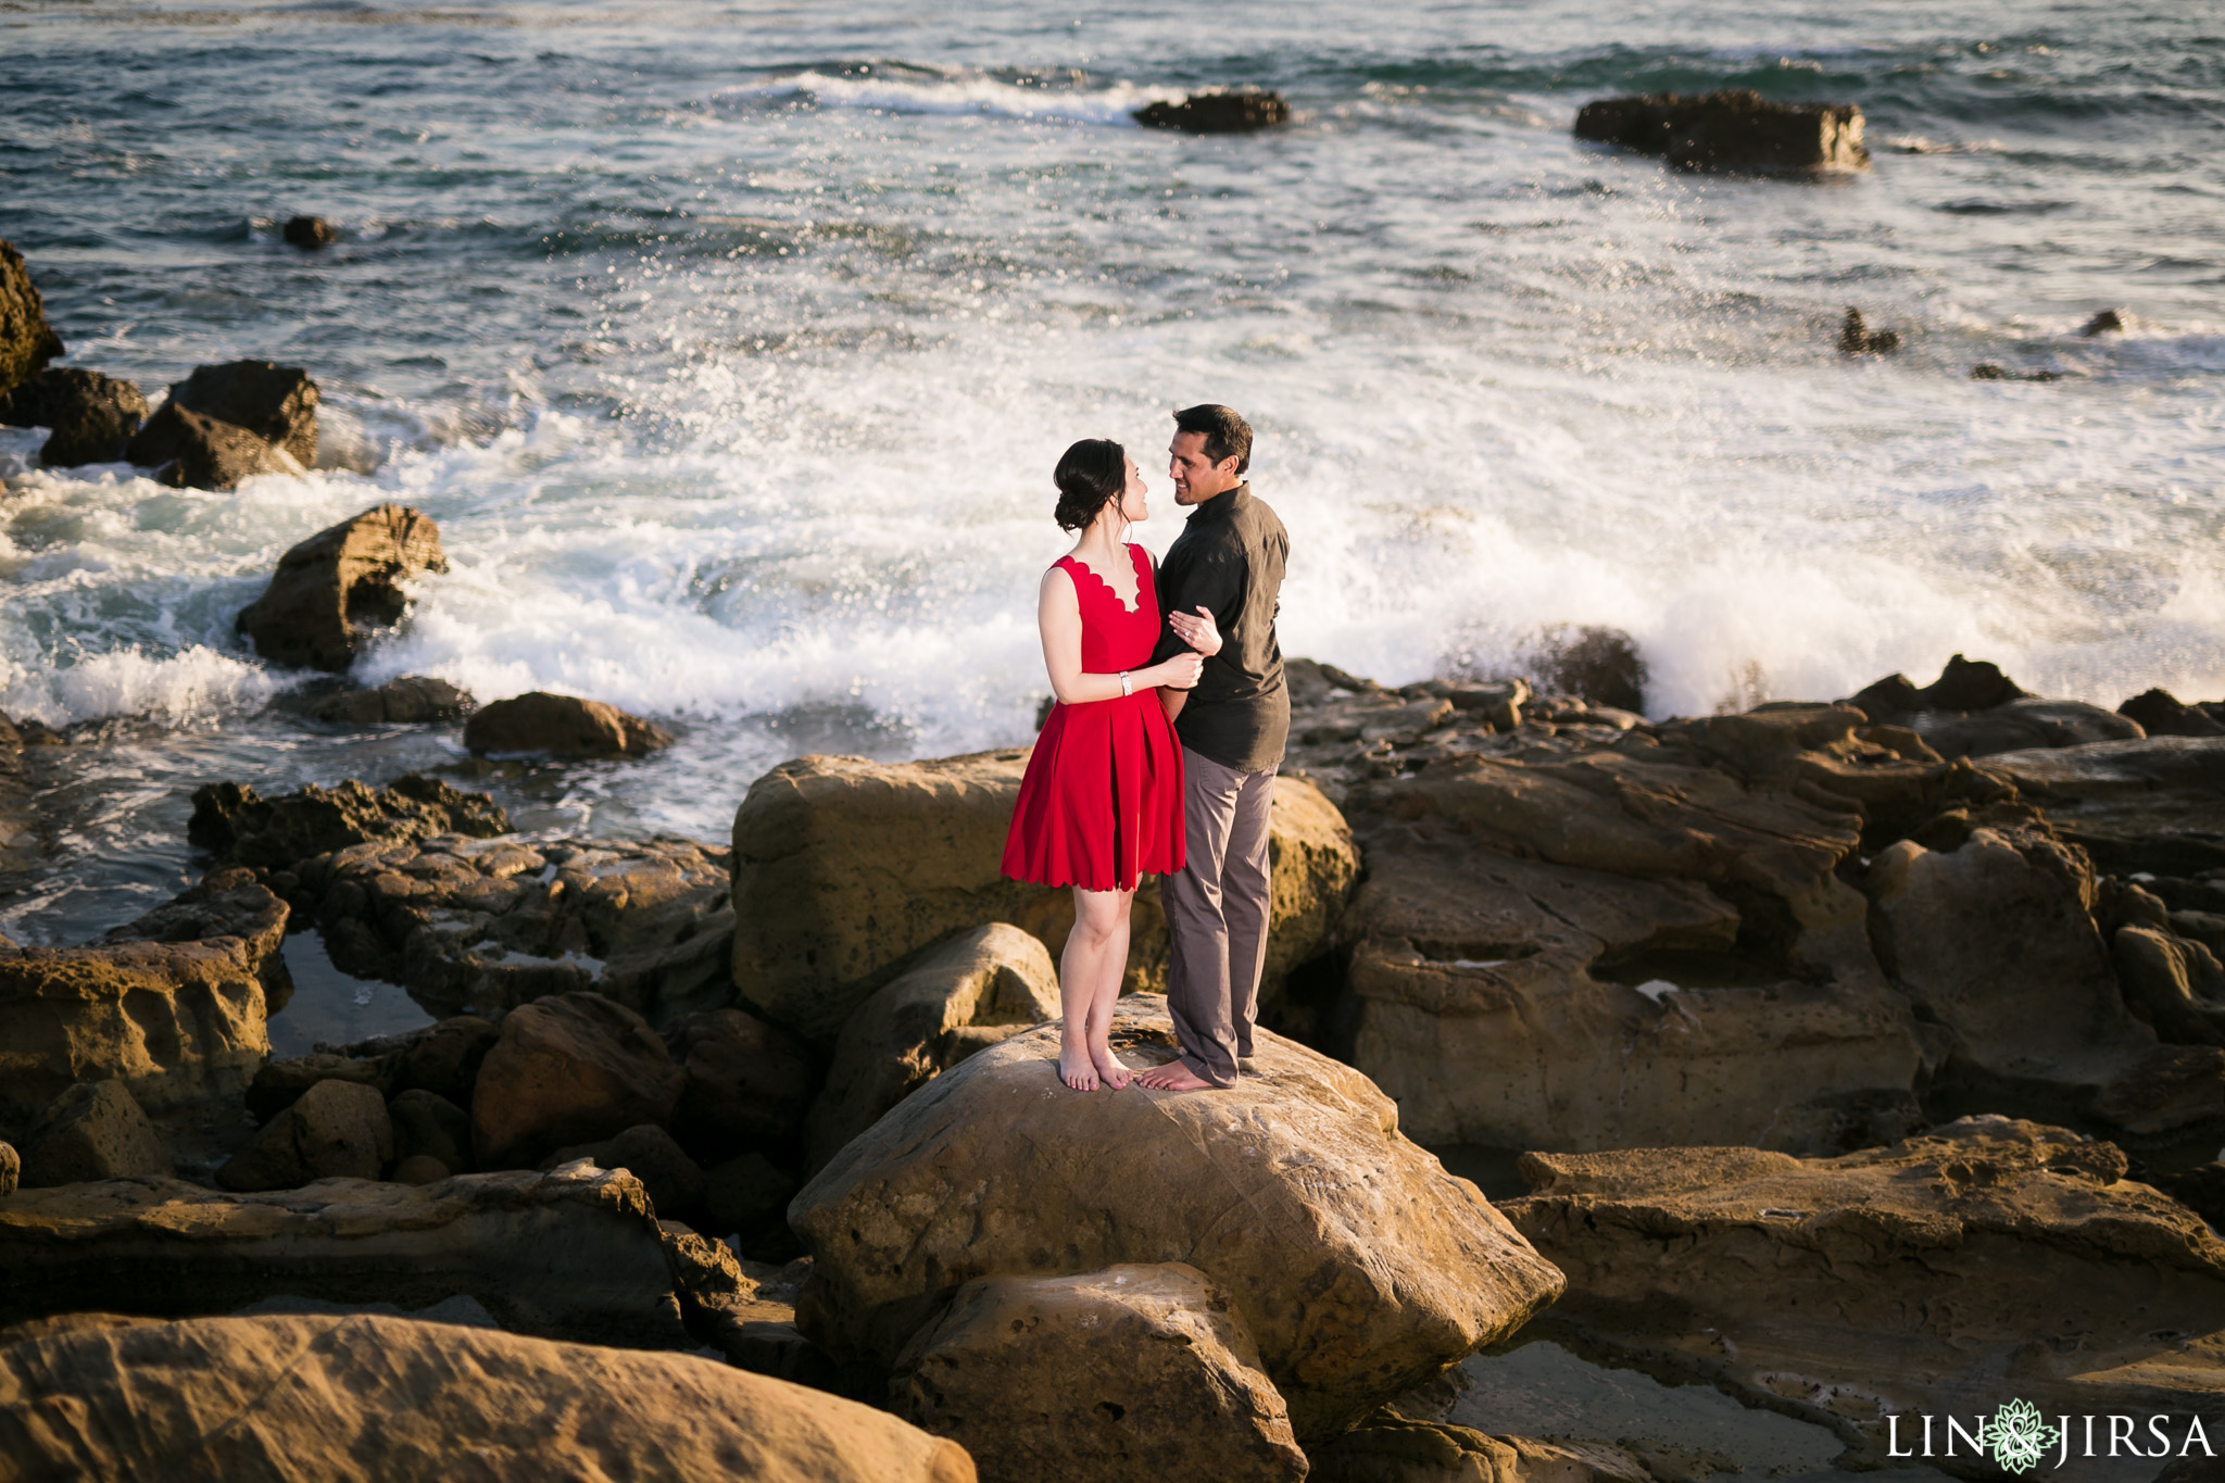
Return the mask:
<svg viewBox="0 0 2225 1483">
<path fill-rule="evenodd" d="M 1081 603 L 1081 669 L 1150 665 L 1159 647 L 1159 587 L 1150 556 L 1130 545 L 1135 611 L 1072 556 L 1057 565 Z M 1052 705 L 1019 783 L 1003 874 L 1035 885 L 1133 892 L 1137 876 L 1181 869 L 1181 743 L 1157 691 Z"/>
</svg>

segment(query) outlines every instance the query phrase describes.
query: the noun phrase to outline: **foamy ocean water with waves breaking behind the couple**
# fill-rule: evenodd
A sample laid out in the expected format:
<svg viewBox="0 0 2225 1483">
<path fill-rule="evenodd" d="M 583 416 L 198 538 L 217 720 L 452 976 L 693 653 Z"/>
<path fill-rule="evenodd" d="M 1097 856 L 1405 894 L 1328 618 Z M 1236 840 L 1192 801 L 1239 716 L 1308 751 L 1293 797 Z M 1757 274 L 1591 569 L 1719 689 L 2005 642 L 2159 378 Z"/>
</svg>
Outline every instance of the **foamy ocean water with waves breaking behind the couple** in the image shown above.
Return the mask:
<svg viewBox="0 0 2225 1483">
<path fill-rule="evenodd" d="M 305 365 L 329 465 L 171 491 L 0 431 L 0 711 L 80 727 L 18 938 L 189 878 L 198 783 L 463 763 L 298 720 L 303 676 L 234 638 L 334 520 L 412 502 L 454 565 L 365 678 L 681 734 L 485 778 L 523 827 L 719 838 L 781 756 L 1024 738 L 1050 465 L 1128 442 L 1164 551 L 1197 400 L 1259 434 L 1286 651 L 1391 683 L 1606 623 L 1655 714 L 1958 649 L 2105 705 L 2225 694 L 2212 4 L 53 0 L 0 7 L 0 236 L 69 365 Z M 1297 118 L 1128 120 L 1219 82 Z M 1860 102 L 1876 167 L 1569 136 L 1711 87 Z M 285 247 L 296 211 L 340 242 Z M 1907 349 L 1842 358 L 1849 305 Z M 2125 334 L 2078 338 L 2105 307 Z"/>
</svg>

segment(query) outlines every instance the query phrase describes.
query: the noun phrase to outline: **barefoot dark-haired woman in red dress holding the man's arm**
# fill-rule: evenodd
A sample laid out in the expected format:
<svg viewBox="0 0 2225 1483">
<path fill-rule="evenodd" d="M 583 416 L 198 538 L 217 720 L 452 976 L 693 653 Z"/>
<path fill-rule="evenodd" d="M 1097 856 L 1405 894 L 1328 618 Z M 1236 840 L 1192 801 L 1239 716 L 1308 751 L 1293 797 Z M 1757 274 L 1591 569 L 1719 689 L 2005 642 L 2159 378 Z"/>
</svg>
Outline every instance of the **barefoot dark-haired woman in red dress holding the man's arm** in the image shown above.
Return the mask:
<svg viewBox="0 0 2225 1483">
<path fill-rule="evenodd" d="M 1139 876 L 1181 869 L 1181 743 L 1159 687 L 1190 689 L 1222 643 L 1213 618 L 1175 616 L 1195 649 L 1159 665 L 1150 554 L 1124 540 L 1146 518 L 1144 478 L 1117 442 L 1084 438 L 1059 458 L 1061 529 L 1075 549 L 1044 574 L 1037 625 L 1057 703 L 1019 785 L 1003 874 L 1075 887 L 1059 954 L 1059 1078 L 1075 1092 L 1128 1085 L 1106 1041 L 1128 969 L 1128 907 Z"/>
</svg>

